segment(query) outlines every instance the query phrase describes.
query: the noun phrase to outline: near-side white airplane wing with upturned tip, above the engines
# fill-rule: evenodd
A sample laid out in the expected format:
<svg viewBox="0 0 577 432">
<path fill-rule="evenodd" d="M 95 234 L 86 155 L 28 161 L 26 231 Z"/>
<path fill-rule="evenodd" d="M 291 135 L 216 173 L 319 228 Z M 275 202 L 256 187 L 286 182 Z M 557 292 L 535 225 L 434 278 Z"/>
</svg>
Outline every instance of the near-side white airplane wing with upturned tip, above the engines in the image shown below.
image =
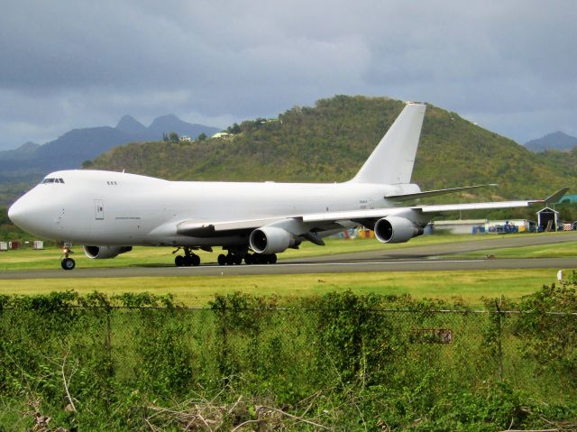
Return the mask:
<svg viewBox="0 0 577 432">
<path fill-rule="evenodd" d="M 460 188 L 456 189 L 458 190 Z M 285 229 L 291 234 L 303 236 L 313 243 L 322 244 L 322 240 L 317 238 L 317 233 L 339 230 L 339 228 L 346 229 L 351 223 L 371 226 L 374 225 L 374 223 L 380 218 L 389 216 L 401 216 L 408 218 L 414 223 L 423 223 L 423 221 L 430 220 L 430 218 L 435 216 L 435 214 L 442 214 L 444 212 L 529 207 L 533 204 L 547 205 L 557 202 L 560 198 L 563 197 L 568 189 L 569 188 L 562 188 L 545 199 L 535 200 L 440 204 L 411 207 L 385 207 L 219 222 L 183 221 L 177 225 L 177 234 L 202 238 L 219 235 L 224 236 L 231 234 L 250 234 L 252 230 L 261 228 L 263 226 L 276 226 Z M 444 191 L 449 189 L 441 190 L 442 193 L 446 193 Z"/>
</svg>

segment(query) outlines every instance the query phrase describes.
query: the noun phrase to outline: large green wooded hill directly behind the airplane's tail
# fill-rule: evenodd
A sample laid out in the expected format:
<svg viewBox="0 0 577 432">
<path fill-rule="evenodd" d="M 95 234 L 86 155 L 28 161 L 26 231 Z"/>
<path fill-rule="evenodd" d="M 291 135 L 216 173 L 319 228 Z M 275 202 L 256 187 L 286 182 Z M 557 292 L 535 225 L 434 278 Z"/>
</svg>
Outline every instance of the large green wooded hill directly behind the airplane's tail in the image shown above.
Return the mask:
<svg viewBox="0 0 577 432">
<path fill-rule="evenodd" d="M 403 106 L 383 97 L 336 96 L 275 120 L 243 122 L 223 138 L 116 147 L 93 168 L 165 179 L 343 181 L 353 177 Z M 481 198 L 535 198 L 575 183 L 576 170 L 571 163 L 560 169 L 560 159 L 536 155 L 429 105 L 413 181 L 423 189 L 499 183 Z"/>
</svg>

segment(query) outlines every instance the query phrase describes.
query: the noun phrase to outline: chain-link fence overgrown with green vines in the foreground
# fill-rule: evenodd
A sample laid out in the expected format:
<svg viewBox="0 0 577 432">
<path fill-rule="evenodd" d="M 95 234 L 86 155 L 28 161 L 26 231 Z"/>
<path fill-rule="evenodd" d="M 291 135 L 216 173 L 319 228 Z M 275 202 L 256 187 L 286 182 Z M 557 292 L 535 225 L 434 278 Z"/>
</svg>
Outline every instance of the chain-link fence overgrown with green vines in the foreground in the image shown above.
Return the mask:
<svg viewBox="0 0 577 432">
<path fill-rule="evenodd" d="M 437 391 L 510 381 L 576 395 L 576 314 L 306 308 L 60 308 L 0 312 L 0 391 L 185 394 L 242 379 L 307 394 L 346 385 Z M 537 335 L 527 323 L 537 322 Z M 572 335 L 572 336 L 568 336 Z M 540 352 L 543 350 L 543 352 Z M 59 384 L 60 385 L 60 384 Z"/>
</svg>

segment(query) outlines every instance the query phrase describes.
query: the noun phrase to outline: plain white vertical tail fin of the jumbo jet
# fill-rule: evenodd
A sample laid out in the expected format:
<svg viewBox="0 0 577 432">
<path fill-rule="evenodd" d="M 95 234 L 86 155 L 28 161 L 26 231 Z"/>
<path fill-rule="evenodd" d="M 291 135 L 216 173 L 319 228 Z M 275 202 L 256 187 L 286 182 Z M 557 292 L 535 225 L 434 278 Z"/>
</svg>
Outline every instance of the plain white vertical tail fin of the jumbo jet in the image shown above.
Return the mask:
<svg viewBox="0 0 577 432">
<path fill-rule="evenodd" d="M 410 183 L 426 105 L 408 104 L 351 181 Z"/>
</svg>

